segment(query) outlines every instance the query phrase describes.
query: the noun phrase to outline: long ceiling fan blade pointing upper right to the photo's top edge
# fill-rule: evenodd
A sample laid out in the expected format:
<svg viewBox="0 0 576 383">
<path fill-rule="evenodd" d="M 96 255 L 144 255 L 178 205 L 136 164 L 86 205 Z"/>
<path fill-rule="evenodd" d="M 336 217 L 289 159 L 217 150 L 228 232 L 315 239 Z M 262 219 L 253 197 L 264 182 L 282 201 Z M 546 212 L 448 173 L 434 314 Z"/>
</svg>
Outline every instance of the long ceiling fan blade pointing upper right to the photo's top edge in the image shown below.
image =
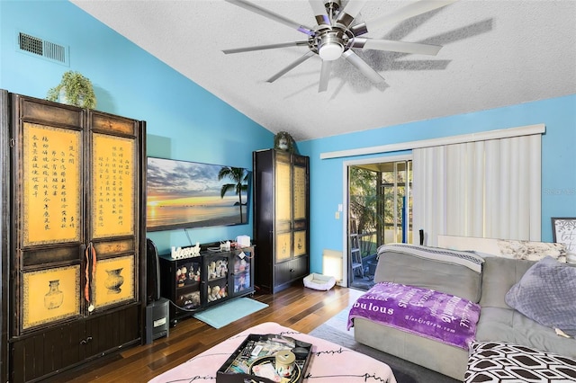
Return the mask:
<svg viewBox="0 0 576 383">
<path fill-rule="evenodd" d="M 410 17 L 418 16 L 422 13 L 427 13 L 434 11 L 435 9 L 442 8 L 443 6 L 455 3 L 458 0 L 420 0 L 416 3 L 411 3 L 400 9 L 384 14 L 381 17 L 377 17 L 374 20 L 369 20 L 363 22 L 362 24 L 355 25 L 351 30 L 356 36 L 366 33 L 368 31 L 374 31 L 389 24 L 397 24 L 403 22 Z"/>
</svg>

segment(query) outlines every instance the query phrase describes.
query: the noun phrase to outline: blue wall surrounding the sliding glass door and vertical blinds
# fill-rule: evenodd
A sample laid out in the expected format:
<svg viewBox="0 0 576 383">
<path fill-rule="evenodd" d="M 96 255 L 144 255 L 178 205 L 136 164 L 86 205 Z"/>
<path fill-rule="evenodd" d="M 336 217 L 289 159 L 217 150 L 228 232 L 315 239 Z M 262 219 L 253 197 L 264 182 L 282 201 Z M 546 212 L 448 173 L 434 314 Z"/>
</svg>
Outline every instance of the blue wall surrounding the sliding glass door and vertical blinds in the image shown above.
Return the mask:
<svg viewBox="0 0 576 383">
<path fill-rule="evenodd" d="M 542 240 L 552 242 L 552 217 L 576 217 L 576 94 L 478 111 L 435 120 L 372 129 L 331 138 L 299 142 L 311 157 L 311 269 L 321 272 L 322 250 L 342 250 L 342 221 L 335 218 L 344 203 L 343 162 L 384 156 L 320 159 L 320 154 L 359 147 L 376 147 L 426 138 L 544 123 L 542 138 Z M 389 153 L 405 155 L 410 152 Z"/>
</svg>

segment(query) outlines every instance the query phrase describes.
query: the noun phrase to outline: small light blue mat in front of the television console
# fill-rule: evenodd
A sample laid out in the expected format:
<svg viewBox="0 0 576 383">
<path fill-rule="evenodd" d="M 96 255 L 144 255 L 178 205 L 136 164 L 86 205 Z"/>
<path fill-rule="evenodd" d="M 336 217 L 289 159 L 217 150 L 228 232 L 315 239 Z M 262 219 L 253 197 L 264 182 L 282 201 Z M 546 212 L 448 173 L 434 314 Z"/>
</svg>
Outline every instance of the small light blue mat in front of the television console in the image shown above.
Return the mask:
<svg viewBox="0 0 576 383">
<path fill-rule="evenodd" d="M 238 320 L 244 316 L 268 307 L 266 303 L 258 302 L 250 298 L 236 298 L 221 305 L 207 308 L 194 317 L 214 328 L 220 328 Z"/>
</svg>

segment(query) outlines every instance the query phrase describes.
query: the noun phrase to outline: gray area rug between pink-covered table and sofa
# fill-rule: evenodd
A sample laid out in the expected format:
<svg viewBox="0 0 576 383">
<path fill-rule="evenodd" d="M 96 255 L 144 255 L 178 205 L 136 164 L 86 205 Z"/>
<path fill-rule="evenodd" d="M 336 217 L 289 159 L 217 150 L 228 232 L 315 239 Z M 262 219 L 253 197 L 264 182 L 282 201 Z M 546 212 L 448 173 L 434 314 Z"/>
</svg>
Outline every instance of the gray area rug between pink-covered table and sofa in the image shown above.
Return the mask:
<svg viewBox="0 0 576 383">
<path fill-rule="evenodd" d="M 383 361 L 392 368 L 398 383 L 458 383 L 458 380 L 428 370 L 418 364 L 404 361 L 386 352 L 378 351 L 354 339 L 354 327 L 347 331 L 349 308 L 332 316 L 324 325 L 313 329 L 309 334 L 327 341 L 340 344 L 356 352 L 368 355 L 378 361 Z"/>
</svg>

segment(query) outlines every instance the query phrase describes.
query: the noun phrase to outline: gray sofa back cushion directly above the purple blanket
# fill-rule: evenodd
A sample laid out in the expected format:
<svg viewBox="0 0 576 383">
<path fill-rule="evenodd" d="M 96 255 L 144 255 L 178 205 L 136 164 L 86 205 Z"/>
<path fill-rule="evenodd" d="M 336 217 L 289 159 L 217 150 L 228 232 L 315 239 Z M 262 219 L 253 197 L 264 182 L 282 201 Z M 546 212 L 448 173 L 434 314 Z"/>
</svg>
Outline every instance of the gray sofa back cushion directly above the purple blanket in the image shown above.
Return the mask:
<svg viewBox="0 0 576 383">
<path fill-rule="evenodd" d="M 482 295 L 483 258 L 472 252 L 393 244 L 378 248 L 375 282 L 434 289 L 478 303 Z"/>
</svg>

